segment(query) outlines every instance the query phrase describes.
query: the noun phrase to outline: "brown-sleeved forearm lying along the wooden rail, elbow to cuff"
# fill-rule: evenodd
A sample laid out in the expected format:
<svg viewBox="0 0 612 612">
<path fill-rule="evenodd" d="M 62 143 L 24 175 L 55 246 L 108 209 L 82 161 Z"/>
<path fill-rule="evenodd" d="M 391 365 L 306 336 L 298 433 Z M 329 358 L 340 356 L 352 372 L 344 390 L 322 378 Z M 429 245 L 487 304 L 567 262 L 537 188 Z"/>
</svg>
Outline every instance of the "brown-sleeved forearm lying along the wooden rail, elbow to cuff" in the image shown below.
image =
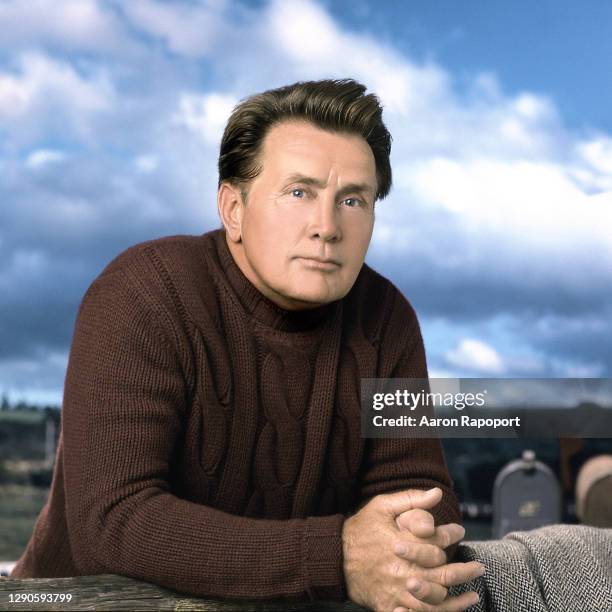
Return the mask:
<svg viewBox="0 0 612 612">
<path fill-rule="evenodd" d="M 155 488 L 109 500 L 90 505 L 85 497 L 69 516 L 83 573 L 123 574 L 196 596 L 345 598 L 342 515 L 247 519 Z"/>
</svg>

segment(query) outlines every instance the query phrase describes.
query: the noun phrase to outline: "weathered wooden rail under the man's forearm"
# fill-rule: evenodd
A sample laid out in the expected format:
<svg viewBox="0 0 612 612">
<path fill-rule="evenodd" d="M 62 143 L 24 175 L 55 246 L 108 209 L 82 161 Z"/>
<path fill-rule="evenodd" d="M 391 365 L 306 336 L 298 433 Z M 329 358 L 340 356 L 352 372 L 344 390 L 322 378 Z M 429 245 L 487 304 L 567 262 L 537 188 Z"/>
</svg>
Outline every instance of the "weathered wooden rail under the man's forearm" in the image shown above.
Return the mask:
<svg viewBox="0 0 612 612">
<path fill-rule="evenodd" d="M 11 602 L 17 596 L 72 595 L 70 602 Z M 0 610 L 176 610 L 207 612 L 363 612 L 354 603 L 221 601 L 177 593 L 126 576 L 104 574 L 74 578 L 0 578 Z"/>
</svg>

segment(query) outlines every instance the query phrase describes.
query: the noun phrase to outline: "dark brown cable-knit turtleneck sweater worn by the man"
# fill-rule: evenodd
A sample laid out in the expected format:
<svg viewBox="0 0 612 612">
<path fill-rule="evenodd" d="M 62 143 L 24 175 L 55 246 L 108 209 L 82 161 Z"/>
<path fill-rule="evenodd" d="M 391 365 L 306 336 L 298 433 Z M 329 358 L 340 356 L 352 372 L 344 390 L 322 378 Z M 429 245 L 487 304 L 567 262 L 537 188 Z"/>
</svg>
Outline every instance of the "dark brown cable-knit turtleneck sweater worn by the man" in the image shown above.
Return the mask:
<svg viewBox="0 0 612 612">
<path fill-rule="evenodd" d="M 136 245 L 81 303 L 49 499 L 11 576 L 343 600 L 357 506 L 440 486 L 436 524 L 460 521 L 439 440 L 360 435 L 361 378 L 426 376 L 412 307 L 367 265 L 290 312 L 223 230 Z"/>
</svg>

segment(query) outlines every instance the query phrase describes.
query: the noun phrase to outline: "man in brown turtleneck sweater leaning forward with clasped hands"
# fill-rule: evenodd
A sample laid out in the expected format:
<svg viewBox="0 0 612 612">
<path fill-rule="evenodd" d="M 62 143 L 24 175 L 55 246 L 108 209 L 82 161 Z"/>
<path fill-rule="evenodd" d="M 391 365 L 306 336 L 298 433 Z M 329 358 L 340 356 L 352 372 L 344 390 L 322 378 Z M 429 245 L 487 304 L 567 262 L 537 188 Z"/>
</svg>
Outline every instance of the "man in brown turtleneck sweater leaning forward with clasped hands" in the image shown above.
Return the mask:
<svg viewBox="0 0 612 612">
<path fill-rule="evenodd" d="M 390 141 L 351 80 L 236 107 L 224 228 L 136 245 L 83 298 L 49 501 L 12 576 L 385 611 L 477 601 L 447 597 L 482 566 L 443 551 L 464 530 L 439 441 L 360 435 L 361 378 L 427 377 L 412 307 L 363 263 Z"/>
</svg>

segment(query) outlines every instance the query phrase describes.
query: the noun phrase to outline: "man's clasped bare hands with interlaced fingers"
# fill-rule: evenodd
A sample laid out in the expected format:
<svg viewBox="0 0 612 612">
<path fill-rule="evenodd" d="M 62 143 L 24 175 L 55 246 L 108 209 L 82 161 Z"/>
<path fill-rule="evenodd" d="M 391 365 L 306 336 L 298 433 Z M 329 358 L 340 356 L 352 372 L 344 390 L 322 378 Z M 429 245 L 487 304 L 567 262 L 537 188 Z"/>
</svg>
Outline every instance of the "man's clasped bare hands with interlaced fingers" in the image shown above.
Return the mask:
<svg viewBox="0 0 612 612">
<path fill-rule="evenodd" d="M 434 526 L 427 510 L 438 487 L 378 495 L 344 522 L 342 546 L 348 596 L 376 612 L 461 612 L 478 602 L 474 591 L 447 597 L 448 587 L 484 573 L 477 561 L 448 563 L 444 548 L 459 542 L 456 523 Z"/>
</svg>

